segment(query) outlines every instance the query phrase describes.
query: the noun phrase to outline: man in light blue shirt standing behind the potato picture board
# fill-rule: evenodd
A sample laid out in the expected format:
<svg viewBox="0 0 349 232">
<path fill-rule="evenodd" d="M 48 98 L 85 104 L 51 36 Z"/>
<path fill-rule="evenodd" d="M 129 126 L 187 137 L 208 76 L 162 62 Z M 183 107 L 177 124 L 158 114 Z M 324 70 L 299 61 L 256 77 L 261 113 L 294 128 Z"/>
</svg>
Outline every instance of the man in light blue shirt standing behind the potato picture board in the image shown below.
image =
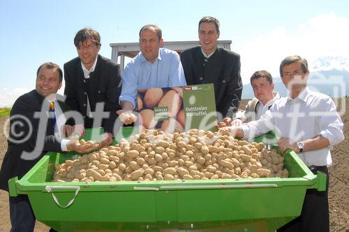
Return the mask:
<svg viewBox="0 0 349 232">
<path fill-rule="evenodd" d="M 140 52 L 126 65 L 119 102 L 124 111 L 135 109 L 138 89 L 185 86 L 186 79 L 179 54 L 161 48 L 161 29 L 147 24 L 140 29 Z"/>
</svg>

